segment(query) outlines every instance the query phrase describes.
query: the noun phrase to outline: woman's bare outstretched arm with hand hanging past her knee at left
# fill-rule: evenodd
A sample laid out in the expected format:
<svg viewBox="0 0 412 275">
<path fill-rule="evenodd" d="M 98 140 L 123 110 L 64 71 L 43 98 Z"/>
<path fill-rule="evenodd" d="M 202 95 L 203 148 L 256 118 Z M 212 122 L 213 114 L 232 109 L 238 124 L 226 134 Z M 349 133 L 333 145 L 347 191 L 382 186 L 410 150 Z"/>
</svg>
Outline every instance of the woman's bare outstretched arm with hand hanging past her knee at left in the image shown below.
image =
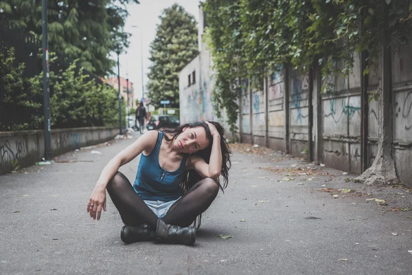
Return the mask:
<svg viewBox="0 0 412 275">
<path fill-rule="evenodd" d="M 146 155 L 150 153 L 156 144 L 157 135 L 157 131 L 144 133 L 138 140 L 120 151 L 104 166 L 87 203 L 87 212 L 90 213 L 90 217 L 100 219 L 102 208 L 106 211 L 106 186 L 108 181 L 111 180 L 121 166 L 135 159 L 141 152 L 145 151 Z"/>
</svg>

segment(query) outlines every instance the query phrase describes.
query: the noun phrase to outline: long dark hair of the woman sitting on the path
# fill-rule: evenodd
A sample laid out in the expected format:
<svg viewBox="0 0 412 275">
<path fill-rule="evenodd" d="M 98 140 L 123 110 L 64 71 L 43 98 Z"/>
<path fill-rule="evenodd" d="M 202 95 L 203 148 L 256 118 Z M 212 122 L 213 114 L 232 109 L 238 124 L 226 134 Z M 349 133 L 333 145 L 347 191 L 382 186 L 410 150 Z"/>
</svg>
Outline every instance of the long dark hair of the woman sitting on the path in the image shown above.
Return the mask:
<svg viewBox="0 0 412 275">
<path fill-rule="evenodd" d="M 220 175 L 223 177 L 223 185 L 220 184 L 220 180 L 216 179 L 216 182 L 224 192 L 224 189 L 227 187 L 227 183 L 229 181 L 229 169 L 231 168 L 231 161 L 230 161 L 230 148 L 229 144 L 227 144 L 226 137 L 225 137 L 225 129 L 220 125 L 219 122 L 214 122 L 214 121 L 209 121 L 209 123 L 214 124 L 216 126 L 216 129 L 218 130 L 220 134 L 220 148 L 222 150 L 222 169 L 220 170 Z M 183 129 L 185 127 L 189 128 L 194 128 L 201 126 L 205 129 L 206 131 L 206 137 L 209 140 L 210 144 L 207 146 L 207 148 L 204 148 L 203 150 L 197 151 L 193 155 L 199 155 L 203 159 L 205 159 L 205 162 L 209 164 L 209 159 L 210 159 L 210 154 L 211 154 L 211 144 L 213 142 L 213 137 L 211 136 L 209 126 L 205 122 L 194 122 L 194 123 L 186 123 L 183 125 L 180 125 L 174 129 L 162 129 L 164 133 L 170 133 L 172 134 L 172 138 L 167 137 L 165 135 L 165 140 L 170 142 L 171 140 L 174 140 L 178 135 L 180 135 L 183 132 Z M 184 175 L 182 182 L 181 182 L 181 188 L 183 189 L 183 192 L 187 192 L 196 182 L 200 181 L 202 179 L 201 175 L 199 175 L 195 170 L 187 170 L 186 174 Z"/>
</svg>

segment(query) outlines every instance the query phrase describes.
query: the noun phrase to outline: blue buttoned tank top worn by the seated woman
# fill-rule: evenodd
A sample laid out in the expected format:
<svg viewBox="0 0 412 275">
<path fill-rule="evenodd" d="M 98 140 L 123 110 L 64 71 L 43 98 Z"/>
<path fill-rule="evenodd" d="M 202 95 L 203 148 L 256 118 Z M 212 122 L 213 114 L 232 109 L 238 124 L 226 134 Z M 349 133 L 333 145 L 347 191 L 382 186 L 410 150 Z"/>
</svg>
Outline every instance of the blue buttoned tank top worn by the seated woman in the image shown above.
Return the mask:
<svg viewBox="0 0 412 275">
<path fill-rule="evenodd" d="M 141 199 L 151 201 L 173 201 L 183 195 L 179 186 L 185 172 L 187 156 L 183 157 L 181 165 L 172 172 L 161 168 L 159 150 L 163 133 L 158 132 L 155 148 L 149 155 L 141 153 L 139 167 L 133 188 Z"/>
</svg>

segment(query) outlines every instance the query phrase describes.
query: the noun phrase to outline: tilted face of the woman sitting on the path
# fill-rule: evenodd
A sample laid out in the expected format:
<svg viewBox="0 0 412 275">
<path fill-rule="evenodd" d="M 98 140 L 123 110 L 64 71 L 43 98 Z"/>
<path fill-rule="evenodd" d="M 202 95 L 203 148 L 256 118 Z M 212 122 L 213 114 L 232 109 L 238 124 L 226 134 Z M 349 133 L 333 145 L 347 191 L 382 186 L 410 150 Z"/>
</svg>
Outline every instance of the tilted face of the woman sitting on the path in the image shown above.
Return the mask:
<svg viewBox="0 0 412 275">
<path fill-rule="evenodd" d="M 199 150 L 203 150 L 209 146 L 209 140 L 206 137 L 205 128 L 202 126 L 189 128 L 183 128 L 180 135 L 174 140 L 174 146 L 179 148 L 181 153 L 196 153 Z"/>
</svg>

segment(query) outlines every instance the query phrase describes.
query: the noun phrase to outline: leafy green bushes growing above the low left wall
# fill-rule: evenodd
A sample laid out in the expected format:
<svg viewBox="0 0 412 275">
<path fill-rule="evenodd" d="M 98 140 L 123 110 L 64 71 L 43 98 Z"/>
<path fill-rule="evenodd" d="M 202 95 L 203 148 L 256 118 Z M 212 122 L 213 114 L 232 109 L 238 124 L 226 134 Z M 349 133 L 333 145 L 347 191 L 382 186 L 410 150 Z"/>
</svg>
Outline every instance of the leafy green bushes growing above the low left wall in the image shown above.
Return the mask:
<svg viewBox="0 0 412 275">
<path fill-rule="evenodd" d="M 56 57 L 50 54 L 50 62 Z M 18 122 L 6 129 L 18 131 L 39 129 L 43 124 L 43 72 L 33 78 L 24 78 L 24 63 L 14 65 L 14 50 L 8 56 L 0 55 L 0 74 L 3 82 L 3 107 L 18 108 L 30 113 L 30 120 Z M 78 67 L 74 61 L 67 69 L 50 72 L 50 113 L 52 126 L 57 128 L 82 126 L 118 126 L 119 102 L 117 91 Z M 126 102 L 122 100 L 122 125 L 126 126 Z"/>
</svg>

